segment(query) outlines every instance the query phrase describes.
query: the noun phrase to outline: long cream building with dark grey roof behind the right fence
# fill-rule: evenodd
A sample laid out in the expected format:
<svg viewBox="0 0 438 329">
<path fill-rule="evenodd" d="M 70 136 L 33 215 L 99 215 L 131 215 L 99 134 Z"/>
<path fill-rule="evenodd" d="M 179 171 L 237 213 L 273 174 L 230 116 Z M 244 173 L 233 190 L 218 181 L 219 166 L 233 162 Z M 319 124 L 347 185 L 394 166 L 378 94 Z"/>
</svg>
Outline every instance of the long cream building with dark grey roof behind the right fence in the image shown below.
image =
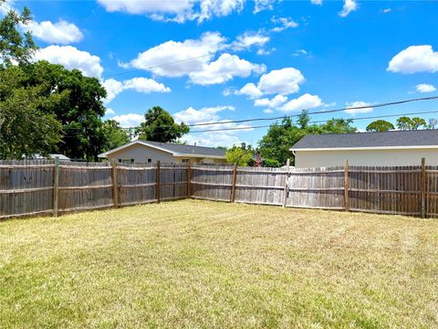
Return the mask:
<svg viewBox="0 0 438 329">
<path fill-rule="evenodd" d="M 438 164 L 438 130 L 310 134 L 290 151 L 297 168 Z"/>
</svg>

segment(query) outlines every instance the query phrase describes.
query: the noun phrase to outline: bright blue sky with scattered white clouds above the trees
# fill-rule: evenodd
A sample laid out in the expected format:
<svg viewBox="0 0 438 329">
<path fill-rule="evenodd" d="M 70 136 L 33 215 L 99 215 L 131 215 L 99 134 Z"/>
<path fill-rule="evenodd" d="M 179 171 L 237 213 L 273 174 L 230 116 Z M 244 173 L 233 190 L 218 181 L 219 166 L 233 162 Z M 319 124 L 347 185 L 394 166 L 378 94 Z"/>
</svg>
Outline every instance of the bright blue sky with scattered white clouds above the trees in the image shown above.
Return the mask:
<svg viewBox="0 0 438 329">
<path fill-rule="evenodd" d="M 109 91 L 106 118 L 124 126 L 141 121 L 154 105 L 189 123 L 354 105 L 370 108 L 315 114 L 312 120 L 438 110 L 437 101 L 372 108 L 373 103 L 437 94 L 438 3 L 433 1 L 99 0 L 8 5 L 31 9 L 34 21 L 24 28 L 34 32 L 41 48 L 36 59 L 98 77 Z M 369 122 L 355 124 L 364 129 Z M 237 126 L 241 125 L 208 129 Z M 256 144 L 265 133 L 266 129 L 192 133 L 185 139 L 211 146 Z"/>
</svg>

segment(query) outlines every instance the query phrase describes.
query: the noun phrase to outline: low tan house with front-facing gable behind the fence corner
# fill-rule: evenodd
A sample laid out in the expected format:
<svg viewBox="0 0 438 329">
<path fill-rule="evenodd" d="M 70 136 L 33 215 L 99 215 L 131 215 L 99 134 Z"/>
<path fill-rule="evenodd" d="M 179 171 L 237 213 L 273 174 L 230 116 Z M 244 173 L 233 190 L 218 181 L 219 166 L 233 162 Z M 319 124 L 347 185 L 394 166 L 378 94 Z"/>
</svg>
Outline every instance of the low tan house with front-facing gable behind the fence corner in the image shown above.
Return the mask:
<svg viewBox="0 0 438 329">
<path fill-rule="evenodd" d="M 224 164 L 225 150 L 175 143 L 133 141 L 98 155 L 117 163 L 203 163 Z"/>
</svg>

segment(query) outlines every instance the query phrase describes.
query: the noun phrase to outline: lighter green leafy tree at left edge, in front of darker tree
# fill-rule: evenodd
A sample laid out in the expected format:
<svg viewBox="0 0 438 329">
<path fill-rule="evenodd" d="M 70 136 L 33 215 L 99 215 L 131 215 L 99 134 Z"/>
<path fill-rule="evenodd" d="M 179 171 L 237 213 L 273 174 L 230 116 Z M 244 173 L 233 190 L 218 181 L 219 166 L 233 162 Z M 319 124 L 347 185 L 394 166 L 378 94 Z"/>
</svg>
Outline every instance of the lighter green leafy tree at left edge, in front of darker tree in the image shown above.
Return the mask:
<svg viewBox="0 0 438 329">
<path fill-rule="evenodd" d="M 26 74 L 20 67 L 0 70 L 0 159 L 21 159 L 57 150 L 61 125 L 53 113 L 62 96 L 46 95 L 41 86 L 23 88 Z"/>
</svg>

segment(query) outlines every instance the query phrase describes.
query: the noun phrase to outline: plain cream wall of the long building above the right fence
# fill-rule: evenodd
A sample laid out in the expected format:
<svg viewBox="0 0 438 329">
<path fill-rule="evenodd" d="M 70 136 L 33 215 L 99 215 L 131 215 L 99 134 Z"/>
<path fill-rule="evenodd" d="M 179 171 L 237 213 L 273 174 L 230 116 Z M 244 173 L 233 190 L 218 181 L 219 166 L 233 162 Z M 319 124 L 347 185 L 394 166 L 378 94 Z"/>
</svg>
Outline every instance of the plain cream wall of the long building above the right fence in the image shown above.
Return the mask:
<svg viewBox="0 0 438 329">
<path fill-rule="evenodd" d="M 296 151 L 295 166 L 310 168 L 344 165 L 419 165 L 422 157 L 426 164 L 438 164 L 437 149 L 411 150 L 357 150 L 357 151 Z"/>
</svg>

